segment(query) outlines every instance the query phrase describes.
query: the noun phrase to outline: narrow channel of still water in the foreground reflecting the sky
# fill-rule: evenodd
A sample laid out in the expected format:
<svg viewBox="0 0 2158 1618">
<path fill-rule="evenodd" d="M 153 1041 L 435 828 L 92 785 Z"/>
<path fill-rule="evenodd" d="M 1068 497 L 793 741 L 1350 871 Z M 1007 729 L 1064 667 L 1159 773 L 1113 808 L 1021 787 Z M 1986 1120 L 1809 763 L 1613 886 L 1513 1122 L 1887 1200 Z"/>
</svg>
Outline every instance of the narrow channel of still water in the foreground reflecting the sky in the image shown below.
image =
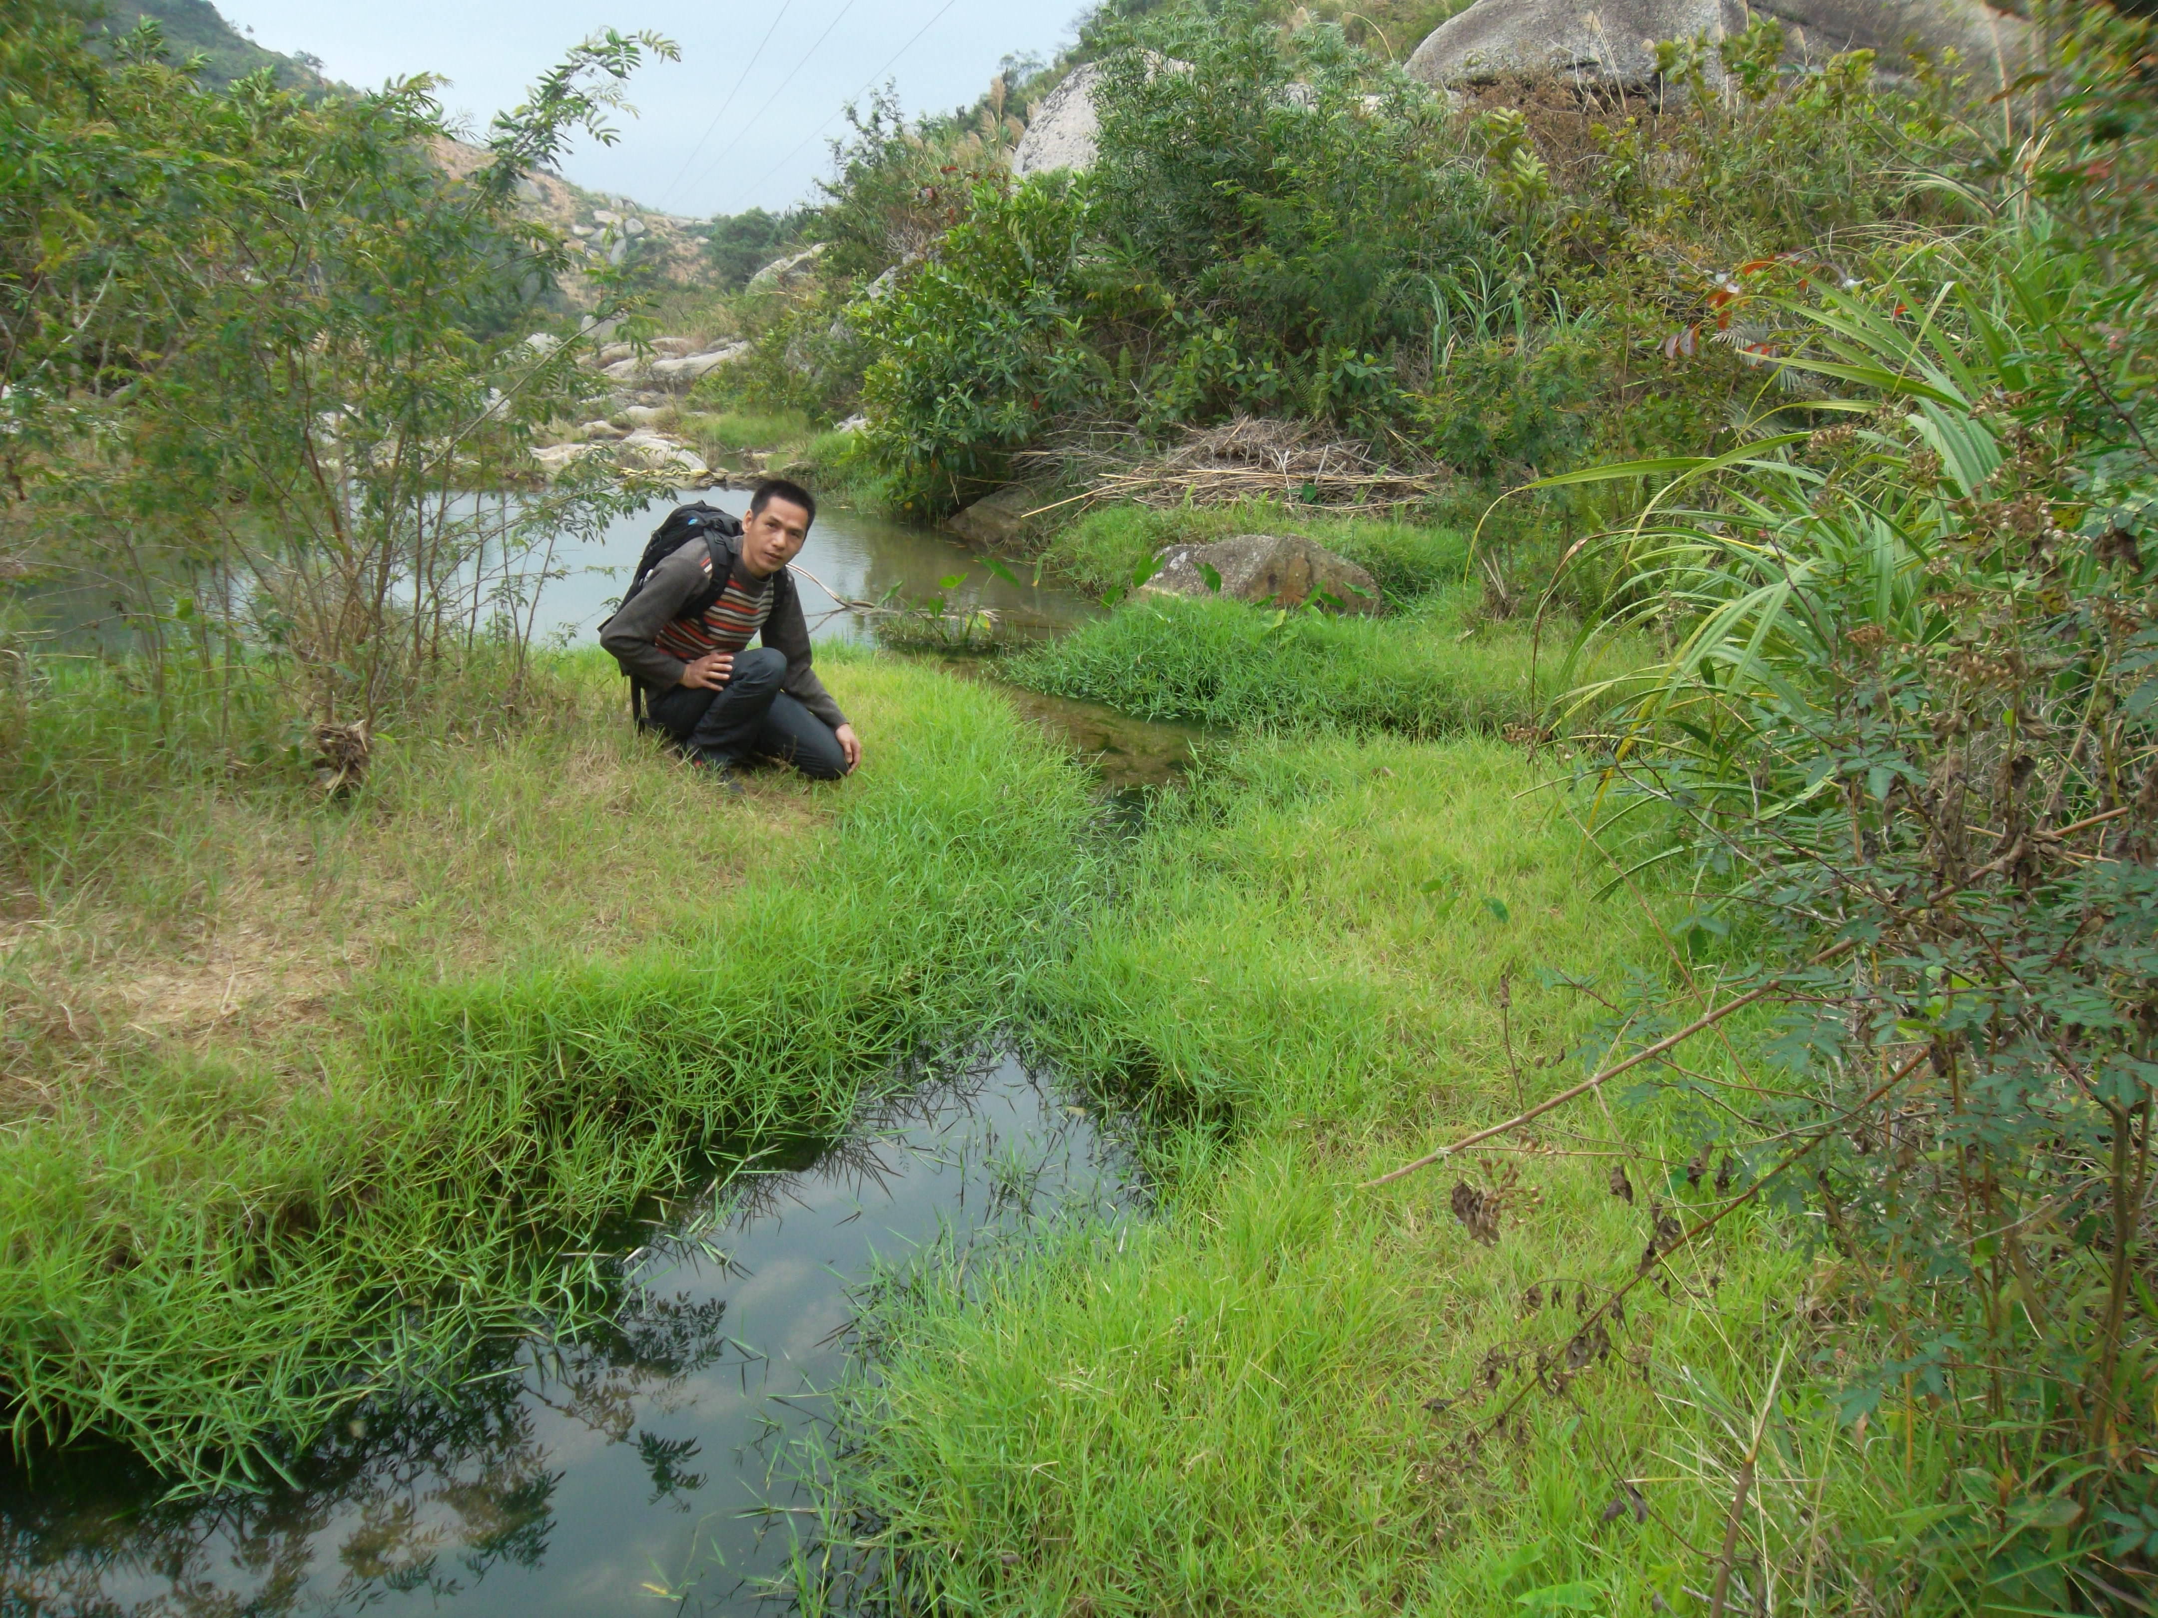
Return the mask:
<svg viewBox="0 0 2158 1618">
<path fill-rule="evenodd" d="M 878 1264 L 1042 1219 L 1118 1219 L 1094 1113 L 1012 1059 L 796 1143 L 617 1232 L 613 1322 L 505 1342 L 455 1396 L 369 1409 L 291 1486 L 160 1502 L 71 1454 L 0 1484 L 0 1612 L 749 1612 L 814 1523 L 798 1480 Z"/>
</svg>

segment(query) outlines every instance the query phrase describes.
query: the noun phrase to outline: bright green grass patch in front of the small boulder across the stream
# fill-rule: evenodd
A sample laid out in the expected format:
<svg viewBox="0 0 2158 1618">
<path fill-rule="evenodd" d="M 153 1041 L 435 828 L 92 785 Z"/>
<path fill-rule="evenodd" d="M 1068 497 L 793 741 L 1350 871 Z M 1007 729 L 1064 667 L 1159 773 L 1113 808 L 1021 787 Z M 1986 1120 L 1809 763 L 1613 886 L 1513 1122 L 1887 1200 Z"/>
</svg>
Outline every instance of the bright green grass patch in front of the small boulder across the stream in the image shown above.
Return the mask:
<svg viewBox="0 0 2158 1618">
<path fill-rule="evenodd" d="M 1549 697 L 1562 652 L 1543 654 Z M 1349 725 L 1444 736 L 1528 723 L 1530 639 L 1465 623 L 1463 595 L 1362 619 L 1142 595 L 1010 664 L 1021 684 L 1198 725 Z"/>
</svg>

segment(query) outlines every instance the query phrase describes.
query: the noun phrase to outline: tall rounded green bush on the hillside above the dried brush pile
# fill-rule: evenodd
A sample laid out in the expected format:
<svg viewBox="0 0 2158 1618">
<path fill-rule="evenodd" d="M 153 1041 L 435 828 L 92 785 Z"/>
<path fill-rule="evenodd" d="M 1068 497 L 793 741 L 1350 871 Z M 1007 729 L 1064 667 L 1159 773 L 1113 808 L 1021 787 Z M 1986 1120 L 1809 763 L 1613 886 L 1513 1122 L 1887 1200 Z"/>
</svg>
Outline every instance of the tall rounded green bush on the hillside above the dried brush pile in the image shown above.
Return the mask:
<svg viewBox="0 0 2158 1618">
<path fill-rule="evenodd" d="M 1444 104 L 1338 28 L 1230 4 L 1133 26 L 1098 106 L 1094 224 L 1170 345 L 1152 414 L 1396 414 L 1431 278 L 1491 255 Z"/>
</svg>

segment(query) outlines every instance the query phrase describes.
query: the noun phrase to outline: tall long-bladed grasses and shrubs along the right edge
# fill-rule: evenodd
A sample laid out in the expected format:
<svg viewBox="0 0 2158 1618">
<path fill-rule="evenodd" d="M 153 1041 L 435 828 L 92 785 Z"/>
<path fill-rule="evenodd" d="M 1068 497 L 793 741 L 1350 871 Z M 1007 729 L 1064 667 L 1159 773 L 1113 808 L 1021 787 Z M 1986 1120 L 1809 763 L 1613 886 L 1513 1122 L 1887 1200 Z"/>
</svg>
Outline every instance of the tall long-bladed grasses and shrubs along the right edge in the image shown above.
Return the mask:
<svg viewBox="0 0 2158 1618">
<path fill-rule="evenodd" d="M 2158 265 L 2111 248 L 2158 145 L 2052 134 L 2104 142 L 2091 196 L 2052 168 L 1977 250 L 1748 308 L 1852 419 L 1657 468 L 1668 509 L 1610 546 L 1681 632 L 1601 770 L 1677 811 L 1638 861 L 1690 856 L 1692 930 L 1785 1007 L 1778 1070 L 1698 1128 L 1804 1158 L 1780 1195 L 1888 1333 L 1843 1417 L 1923 1420 L 1988 1482 L 1914 1532 L 1912 1599 L 2072 1609 L 2152 1579 Z"/>
</svg>

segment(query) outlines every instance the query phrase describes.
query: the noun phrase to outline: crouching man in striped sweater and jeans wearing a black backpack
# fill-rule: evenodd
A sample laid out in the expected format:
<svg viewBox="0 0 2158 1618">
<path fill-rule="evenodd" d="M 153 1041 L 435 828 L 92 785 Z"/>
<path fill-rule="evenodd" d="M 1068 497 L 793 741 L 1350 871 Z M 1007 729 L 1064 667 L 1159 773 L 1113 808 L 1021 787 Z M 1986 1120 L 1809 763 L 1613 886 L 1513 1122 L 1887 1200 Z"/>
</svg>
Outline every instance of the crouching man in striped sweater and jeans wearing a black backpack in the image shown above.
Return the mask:
<svg viewBox="0 0 2158 1618">
<path fill-rule="evenodd" d="M 809 626 L 788 572 L 814 520 L 807 490 L 757 483 L 738 537 L 693 533 L 600 626 L 600 645 L 643 688 L 650 721 L 729 785 L 751 757 L 783 759 L 816 781 L 861 764 L 855 727 L 809 667 Z M 753 639 L 764 641 L 755 652 Z"/>
</svg>

